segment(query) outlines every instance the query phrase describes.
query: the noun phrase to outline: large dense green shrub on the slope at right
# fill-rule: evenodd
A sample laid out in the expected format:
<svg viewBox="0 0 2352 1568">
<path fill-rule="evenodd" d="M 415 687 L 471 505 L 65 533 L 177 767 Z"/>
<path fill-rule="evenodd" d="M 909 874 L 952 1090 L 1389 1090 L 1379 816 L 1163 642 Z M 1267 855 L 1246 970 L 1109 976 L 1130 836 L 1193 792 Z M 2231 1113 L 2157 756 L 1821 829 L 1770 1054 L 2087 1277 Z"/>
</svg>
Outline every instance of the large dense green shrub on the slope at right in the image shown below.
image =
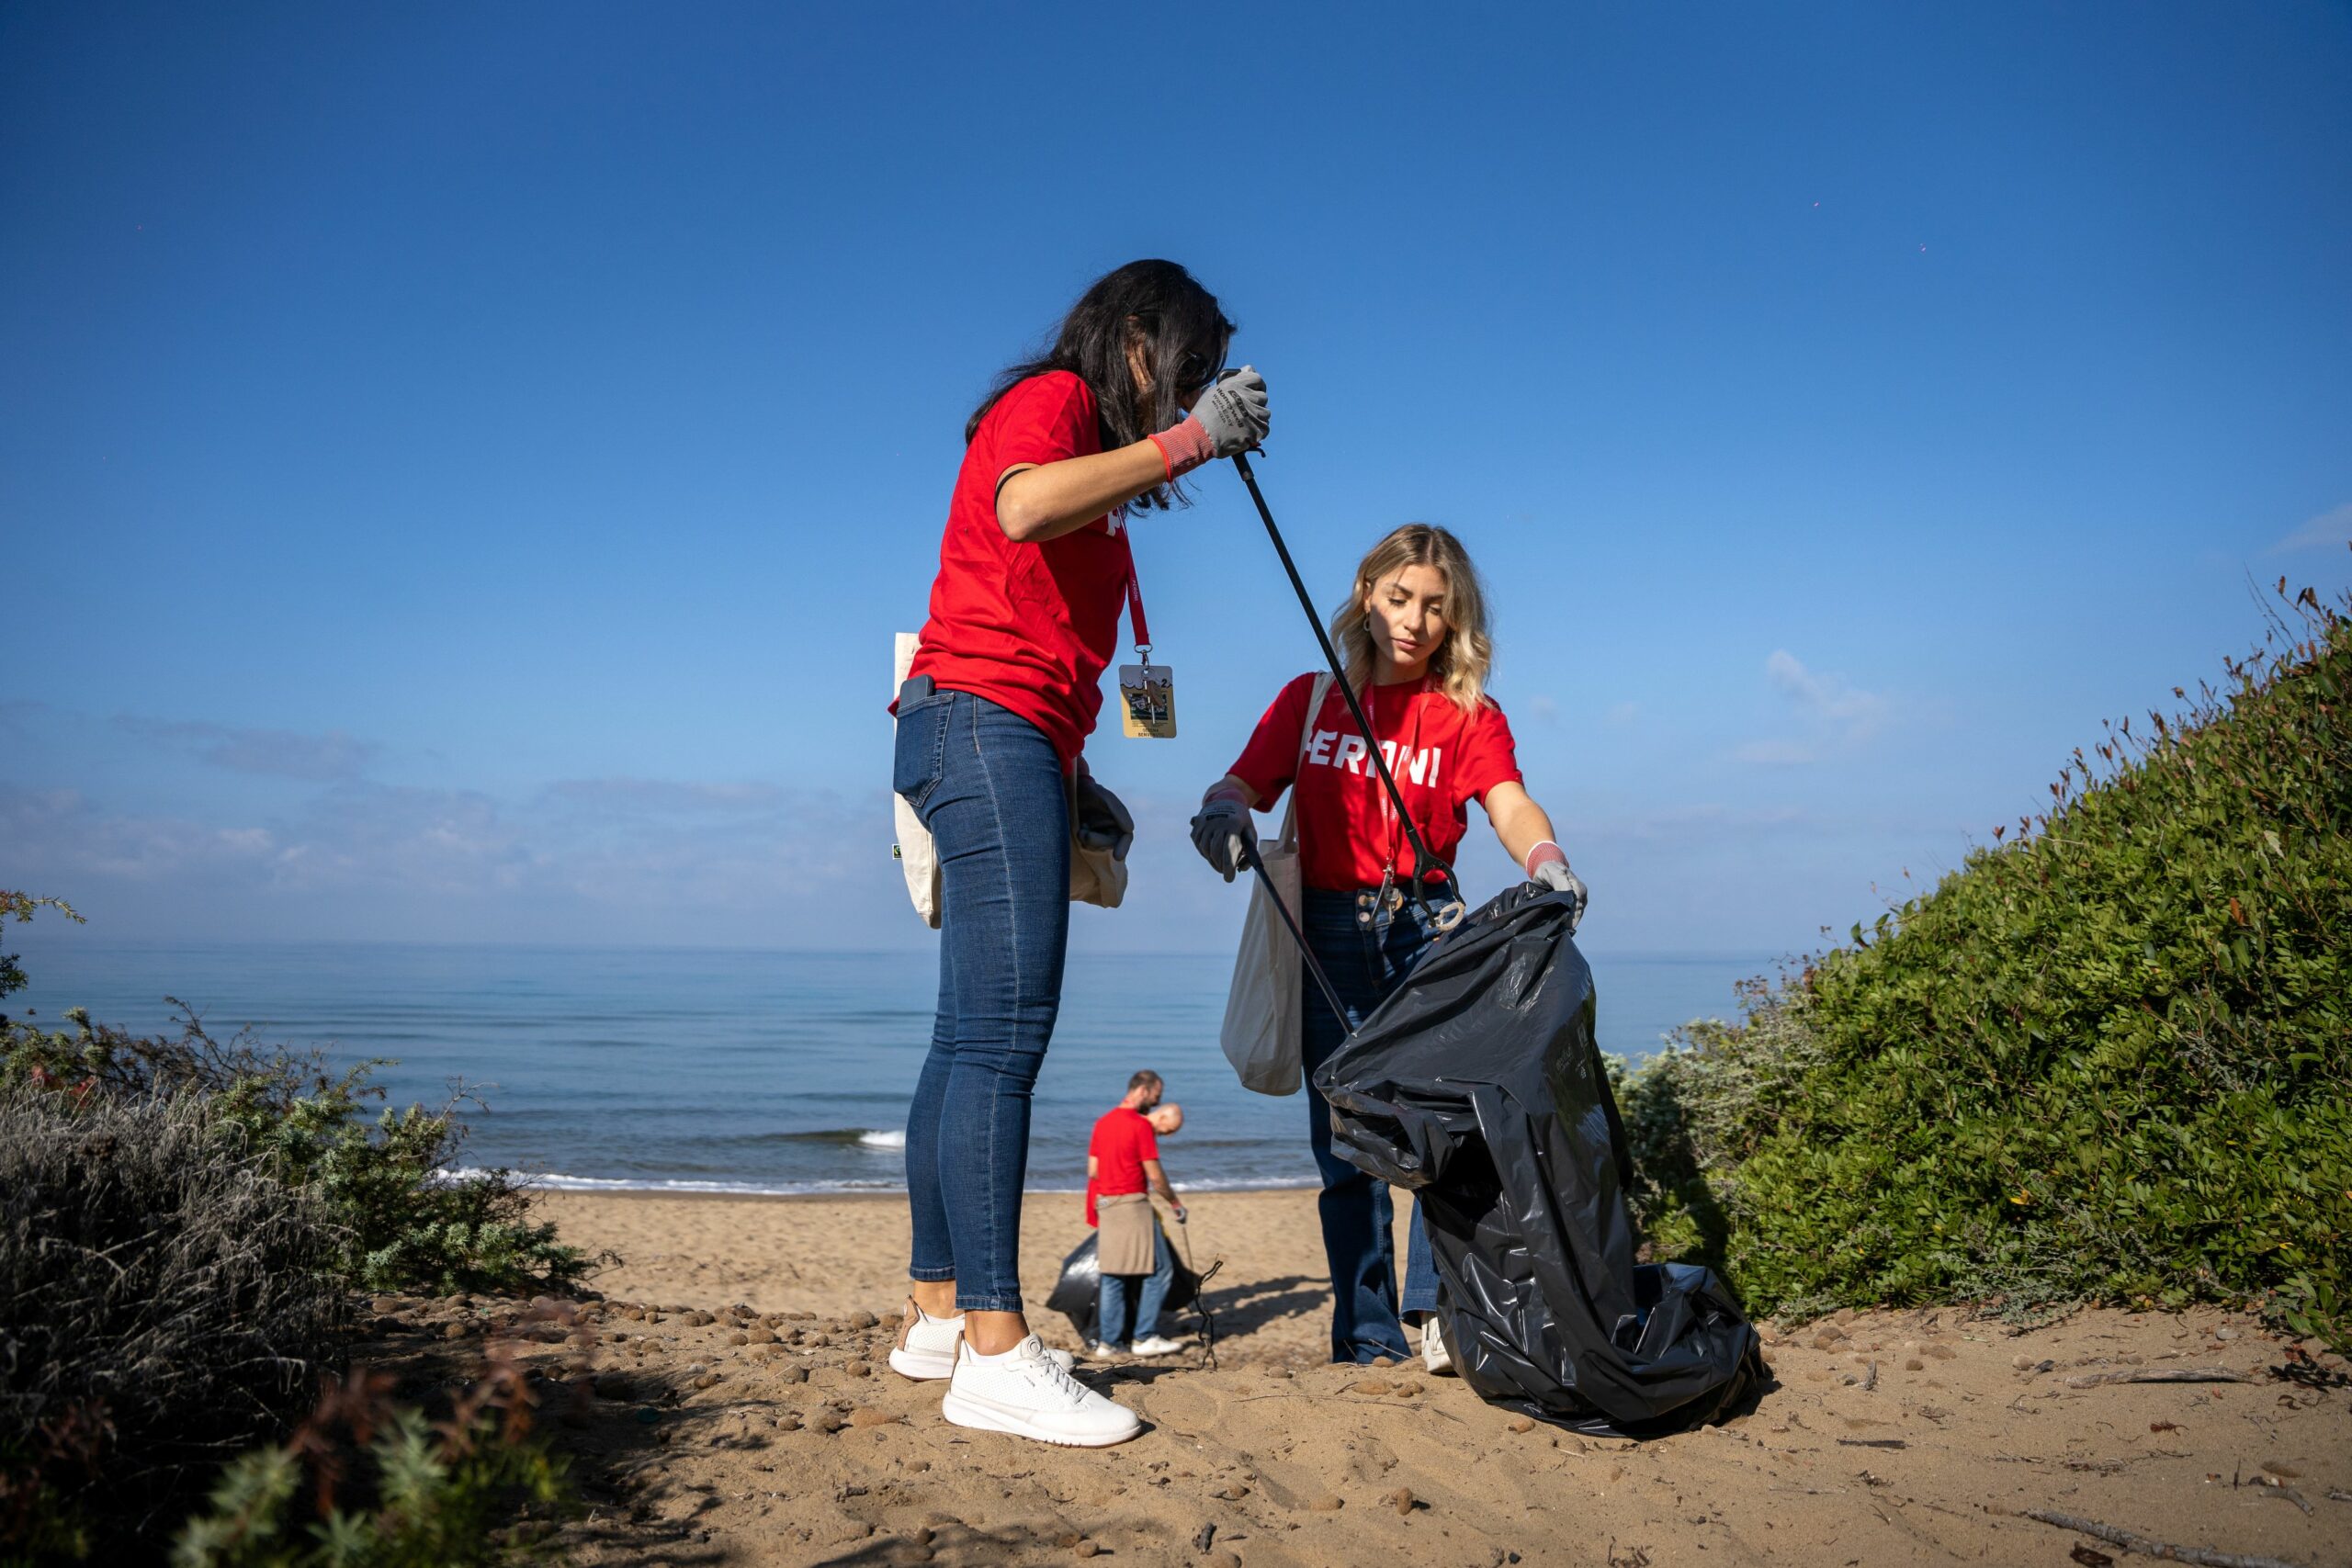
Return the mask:
<svg viewBox="0 0 2352 1568">
<path fill-rule="evenodd" d="M 1623 1081 L 1658 1246 L 1766 1312 L 2256 1300 L 2347 1338 L 2352 621 L 2286 611 Z"/>
</svg>

